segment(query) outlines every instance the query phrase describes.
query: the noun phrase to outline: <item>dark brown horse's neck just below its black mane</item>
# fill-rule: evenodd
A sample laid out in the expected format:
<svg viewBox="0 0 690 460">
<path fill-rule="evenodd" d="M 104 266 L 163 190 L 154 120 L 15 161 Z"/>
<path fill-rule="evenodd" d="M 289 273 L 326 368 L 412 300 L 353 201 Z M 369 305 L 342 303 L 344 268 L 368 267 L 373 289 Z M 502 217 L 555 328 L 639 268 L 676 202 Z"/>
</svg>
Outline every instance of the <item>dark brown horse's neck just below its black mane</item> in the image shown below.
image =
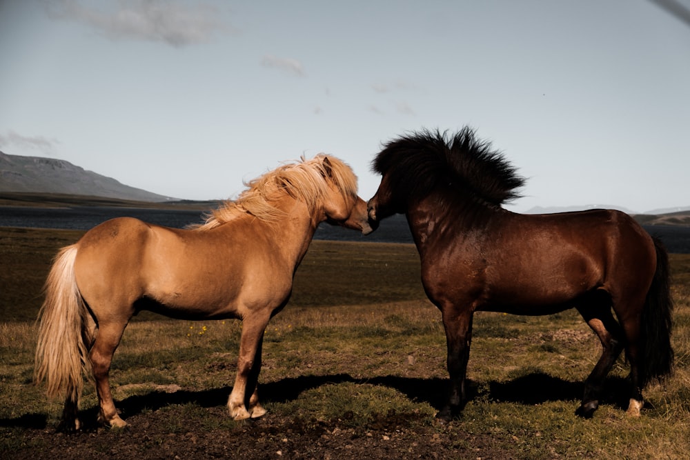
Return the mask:
<svg viewBox="0 0 690 460">
<path fill-rule="evenodd" d="M 415 245 L 423 256 L 426 248 L 438 239 L 486 228 L 489 221 L 502 212 L 501 208 L 469 196 L 435 190 L 423 199 L 412 199 L 408 203 L 406 217 Z"/>
</svg>

